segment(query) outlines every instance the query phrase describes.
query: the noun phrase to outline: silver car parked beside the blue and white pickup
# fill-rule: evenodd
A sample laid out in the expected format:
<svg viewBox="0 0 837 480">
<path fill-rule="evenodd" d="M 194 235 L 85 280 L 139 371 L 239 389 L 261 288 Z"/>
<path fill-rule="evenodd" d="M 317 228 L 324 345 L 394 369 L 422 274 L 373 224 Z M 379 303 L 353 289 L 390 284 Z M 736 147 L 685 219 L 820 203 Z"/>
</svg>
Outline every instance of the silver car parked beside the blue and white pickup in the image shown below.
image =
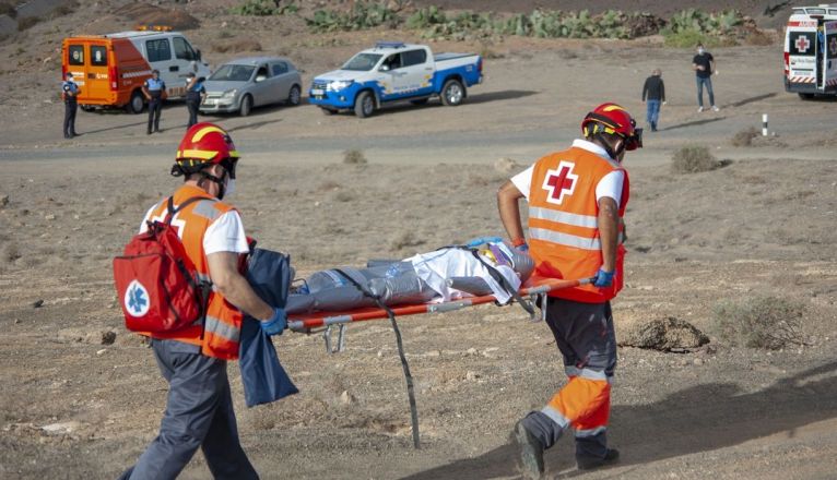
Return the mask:
<svg viewBox="0 0 837 480">
<path fill-rule="evenodd" d="M 203 86 L 207 96 L 201 113 L 237 111 L 250 115 L 252 107 L 285 101 L 299 105 L 302 79 L 291 60 L 282 57 L 248 57 L 221 65 Z"/>
</svg>

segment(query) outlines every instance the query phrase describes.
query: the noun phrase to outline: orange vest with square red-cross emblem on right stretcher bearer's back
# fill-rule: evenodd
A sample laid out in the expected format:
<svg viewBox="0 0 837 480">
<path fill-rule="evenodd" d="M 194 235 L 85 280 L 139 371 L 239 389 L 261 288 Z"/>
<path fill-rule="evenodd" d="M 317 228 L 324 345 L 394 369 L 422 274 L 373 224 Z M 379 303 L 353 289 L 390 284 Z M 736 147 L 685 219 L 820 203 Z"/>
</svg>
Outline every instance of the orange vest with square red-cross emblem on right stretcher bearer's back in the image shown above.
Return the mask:
<svg viewBox="0 0 837 480">
<path fill-rule="evenodd" d="M 622 290 L 625 256 L 622 217 L 628 201 L 628 177 L 616 161 L 580 147 L 547 155 L 534 165 L 529 192 L 529 252 L 535 261 L 535 275 L 549 278 L 587 278 L 596 275 L 602 265 L 596 185 L 614 170 L 624 171 L 625 181 L 620 199 L 620 238 L 612 286 L 583 285 L 556 290 L 551 296 L 601 303 Z"/>
</svg>

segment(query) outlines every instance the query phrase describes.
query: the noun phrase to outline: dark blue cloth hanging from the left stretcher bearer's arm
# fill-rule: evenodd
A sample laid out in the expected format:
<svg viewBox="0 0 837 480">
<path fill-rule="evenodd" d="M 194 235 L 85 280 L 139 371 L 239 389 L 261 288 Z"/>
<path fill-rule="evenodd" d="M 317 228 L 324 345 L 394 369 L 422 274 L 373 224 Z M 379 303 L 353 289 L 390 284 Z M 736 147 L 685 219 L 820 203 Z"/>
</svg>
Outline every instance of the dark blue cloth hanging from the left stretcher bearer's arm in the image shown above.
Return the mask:
<svg viewBox="0 0 837 480">
<path fill-rule="evenodd" d="M 288 255 L 263 249 L 254 250 L 247 280 L 268 304 L 284 308 L 293 279 L 294 269 Z M 238 364 L 241 368 L 244 399 L 248 407 L 299 393 L 279 362 L 270 336 L 261 331 L 258 320 L 250 316 L 245 316 L 241 325 Z"/>
</svg>

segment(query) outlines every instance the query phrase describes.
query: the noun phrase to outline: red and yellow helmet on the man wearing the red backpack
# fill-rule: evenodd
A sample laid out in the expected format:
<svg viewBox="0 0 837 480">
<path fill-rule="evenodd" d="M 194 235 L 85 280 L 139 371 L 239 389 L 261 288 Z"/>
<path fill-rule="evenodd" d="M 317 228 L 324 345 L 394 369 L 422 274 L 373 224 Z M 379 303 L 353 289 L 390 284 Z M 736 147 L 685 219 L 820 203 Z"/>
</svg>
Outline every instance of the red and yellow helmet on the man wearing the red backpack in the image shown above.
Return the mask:
<svg viewBox="0 0 837 480">
<path fill-rule="evenodd" d="M 224 164 L 231 178 L 235 178 L 238 152 L 233 139 L 224 129 L 214 123 L 201 122 L 186 131 L 180 146 L 177 147 L 175 160 L 177 163 L 172 167 L 172 175 L 175 176 L 193 173 L 214 164 Z"/>
</svg>

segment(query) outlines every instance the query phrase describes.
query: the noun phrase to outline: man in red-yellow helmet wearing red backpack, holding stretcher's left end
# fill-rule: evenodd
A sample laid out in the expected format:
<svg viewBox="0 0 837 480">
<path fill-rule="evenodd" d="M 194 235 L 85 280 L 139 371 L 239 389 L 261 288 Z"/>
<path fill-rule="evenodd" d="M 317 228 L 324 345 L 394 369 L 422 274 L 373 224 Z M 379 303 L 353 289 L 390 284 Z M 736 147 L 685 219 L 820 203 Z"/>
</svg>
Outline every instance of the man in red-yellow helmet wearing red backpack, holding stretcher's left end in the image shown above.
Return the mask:
<svg viewBox="0 0 837 480">
<path fill-rule="evenodd" d="M 224 202 L 234 191 L 238 152 L 220 127 L 197 123 L 177 149 L 172 175 L 184 177 L 174 194 L 172 225 L 199 276 L 213 284 L 207 316 L 179 331 L 149 335 L 157 365 L 168 382 L 160 433 L 122 479 L 174 479 L 200 447 L 216 479 L 257 479 L 238 442 L 226 361 L 238 358 L 244 313 L 261 320 L 270 335 L 286 326 L 285 313 L 262 301 L 238 272 L 248 242 L 238 212 Z M 163 220 L 168 197 L 151 207 L 142 221 Z"/>
</svg>

